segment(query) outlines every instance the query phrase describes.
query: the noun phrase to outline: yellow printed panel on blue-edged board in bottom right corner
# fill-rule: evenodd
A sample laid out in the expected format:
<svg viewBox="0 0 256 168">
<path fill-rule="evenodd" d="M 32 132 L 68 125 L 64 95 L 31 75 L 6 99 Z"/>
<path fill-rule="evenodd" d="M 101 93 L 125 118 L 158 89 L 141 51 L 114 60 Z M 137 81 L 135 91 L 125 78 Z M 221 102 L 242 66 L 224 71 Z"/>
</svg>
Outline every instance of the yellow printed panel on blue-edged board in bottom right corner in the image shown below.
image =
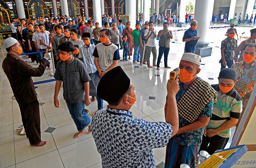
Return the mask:
<svg viewBox="0 0 256 168">
<path fill-rule="evenodd" d="M 196 168 L 218 168 L 219 166 L 221 166 L 221 163 L 224 163 L 230 156 L 232 156 L 236 152 L 236 150 L 238 149 L 214 153 Z"/>
</svg>

